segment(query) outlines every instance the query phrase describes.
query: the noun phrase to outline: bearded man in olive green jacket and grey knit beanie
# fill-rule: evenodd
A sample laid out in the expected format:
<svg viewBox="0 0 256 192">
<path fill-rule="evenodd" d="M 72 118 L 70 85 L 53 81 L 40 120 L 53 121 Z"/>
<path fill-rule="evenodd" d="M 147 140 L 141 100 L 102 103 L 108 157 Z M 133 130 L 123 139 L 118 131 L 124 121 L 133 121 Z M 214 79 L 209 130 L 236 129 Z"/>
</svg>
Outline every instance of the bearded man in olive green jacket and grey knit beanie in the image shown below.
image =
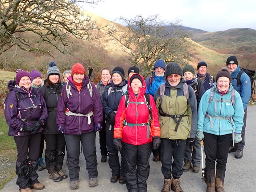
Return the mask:
<svg viewBox="0 0 256 192">
<path fill-rule="evenodd" d="M 177 63 L 170 62 L 165 75 L 165 88 L 158 88 L 154 96 L 161 128 L 161 170 L 165 177 L 161 192 L 169 192 L 170 188 L 182 192 L 179 178 L 183 173 L 186 140 L 194 142 L 196 135 L 197 101 L 193 88 L 184 85 L 182 68 Z"/>
</svg>

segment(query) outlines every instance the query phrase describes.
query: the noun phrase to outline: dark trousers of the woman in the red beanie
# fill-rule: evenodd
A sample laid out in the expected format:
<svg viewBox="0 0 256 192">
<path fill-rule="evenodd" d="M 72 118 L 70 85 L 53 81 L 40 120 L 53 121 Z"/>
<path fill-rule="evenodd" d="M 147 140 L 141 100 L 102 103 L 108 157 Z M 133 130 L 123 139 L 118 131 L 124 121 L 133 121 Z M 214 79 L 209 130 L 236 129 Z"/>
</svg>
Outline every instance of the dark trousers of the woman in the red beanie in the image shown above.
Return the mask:
<svg viewBox="0 0 256 192">
<path fill-rule="evenodd" d="M 98 177 L 97 171 L 97 156 L 96 156 L 96 133 L 88 132 L 82 135 L 66 135 L 66 148 L 68 152 L 68 169 L 70 181 L 79 179 L 79 156 L 80 156 L 80 143 L 83 148 L 83 156 L 86 161 L 86 170 L 88 171 L 89 178 Z"/>
</svg>

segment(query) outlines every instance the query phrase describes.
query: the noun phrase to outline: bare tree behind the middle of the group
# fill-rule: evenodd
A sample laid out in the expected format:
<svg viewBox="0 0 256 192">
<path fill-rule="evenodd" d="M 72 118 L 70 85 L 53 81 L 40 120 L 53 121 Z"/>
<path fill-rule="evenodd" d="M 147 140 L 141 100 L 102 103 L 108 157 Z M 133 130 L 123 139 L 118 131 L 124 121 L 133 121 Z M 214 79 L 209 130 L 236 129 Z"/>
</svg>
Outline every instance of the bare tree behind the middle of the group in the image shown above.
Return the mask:
<svg viewBox="0 0 256 192">
<path fill-rule="evenodd" d="M 128 31 L 108 28 L 108 34 L 116 39 L 129 55 L 132 65 L 142 69 L 142 75 L 149 75 L 156 60 L 162 59 L 186 64 L 188 59 L 186 37 L 189 34 L 181 29 L 179 20 L 166 24 L 158 15 L 143 18 L 138 15 L 132 19 L 120 18 Z"/>
</svg>

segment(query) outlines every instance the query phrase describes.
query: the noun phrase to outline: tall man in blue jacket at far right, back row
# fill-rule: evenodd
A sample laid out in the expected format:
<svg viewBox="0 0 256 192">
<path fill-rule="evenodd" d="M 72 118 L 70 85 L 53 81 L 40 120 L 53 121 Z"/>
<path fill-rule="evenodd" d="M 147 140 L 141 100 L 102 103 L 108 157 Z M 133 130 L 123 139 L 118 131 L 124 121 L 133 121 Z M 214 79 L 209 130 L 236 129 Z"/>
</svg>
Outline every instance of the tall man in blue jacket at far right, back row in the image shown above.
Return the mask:
<svg viewBox="0 0 256 192">
<path fill-rule="evenodd" d="M 251 80 L 250 77 L 243 72 L 240 77 L 240 84 L 237 83 L 237 75 L 241 71 L 238 60 L 235 56 L 230 56 L 227 58 L 227 68 L 231 72 L 232 77 L 232 85 L 234 89 L 239 93 L 243 101 L 244 108 L 244 126 L 242 128 L 242 141 L 235 144 L 235 146 L 230 146 L 229 152 L 235 152 L 235 158 L 240 159 L 243 156 L 243 149 L 245 145 L 244 135 L 245 135 L 245 127 L 246 127 L 246 118 L 247 118 L 247 106 L 249 100 L 251 98 Z"/>
</svg>

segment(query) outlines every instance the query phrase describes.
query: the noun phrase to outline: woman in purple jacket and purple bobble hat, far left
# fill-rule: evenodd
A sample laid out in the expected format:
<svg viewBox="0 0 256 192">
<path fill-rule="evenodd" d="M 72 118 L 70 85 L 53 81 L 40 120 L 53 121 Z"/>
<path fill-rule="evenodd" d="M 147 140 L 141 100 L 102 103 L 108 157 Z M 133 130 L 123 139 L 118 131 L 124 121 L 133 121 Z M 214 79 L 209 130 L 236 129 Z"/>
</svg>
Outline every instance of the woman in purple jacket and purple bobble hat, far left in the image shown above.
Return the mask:
<svg viewBox="0 0 256 192">
<path fill-rule="evenodd" d="M 33 192 L 31 188 L 45 188 L 37 178 L 37 163 L 42 125 L 47 118 L 43 96 L 31 87 L 29 72 L 17 70 L 16 80 L 8 82 L 10 92 L 4 102 L 5 120 L 9 136 L 17 144 L 16 174 L 21 192 Z"/>
</svg>

